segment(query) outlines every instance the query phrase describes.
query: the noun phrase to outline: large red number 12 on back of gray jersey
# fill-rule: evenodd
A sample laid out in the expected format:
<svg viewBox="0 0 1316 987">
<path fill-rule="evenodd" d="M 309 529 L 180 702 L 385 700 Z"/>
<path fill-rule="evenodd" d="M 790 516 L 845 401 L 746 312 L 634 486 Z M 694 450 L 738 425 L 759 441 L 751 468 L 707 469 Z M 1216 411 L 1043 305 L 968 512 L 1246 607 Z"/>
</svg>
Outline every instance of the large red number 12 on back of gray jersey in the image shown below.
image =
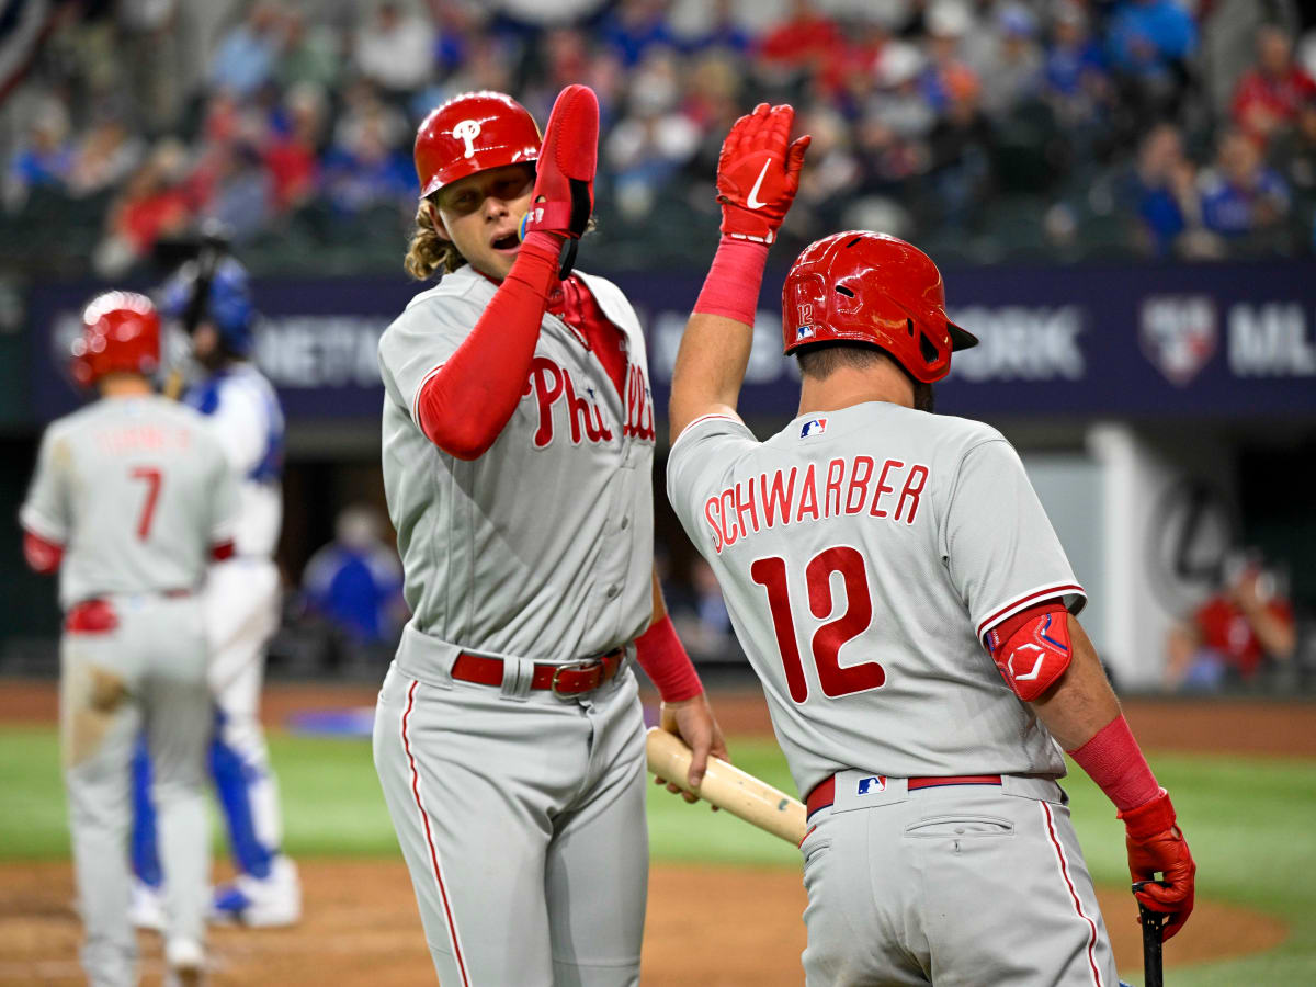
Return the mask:
<svg viewBox="0 0 1316 987">
<path fill-rule="evenodd" d="M 822 620 L 836 604 L 832 596 L 832 574 L 840 572 L 845 586 L 845 611 L 834 620 L 813 632 L 809 650 L 819 672 L 819 684 L 829 699 L 878 688 L 887 680 L 886 670 L 876 662 L 861 662 L 841 667 L 841 645 L 858 637 L 873 622 L 873 596 L 863 555 L 848 545 L 824 549 L 804 567 L 804 584 L 809 597 L 809 612 Z M 803 703 L 809 697 L 809 683 L 800 659 L 795 617 L 791 613 L 790 580 L 786 559 L 779 555 L 755 559 L 749 567 L 750 578 L 767 591 L 767 605 L 772 612 L 772 630 L 776 647 L 782 653 L 786 684 L 791 699 Z"/>
</svg>

